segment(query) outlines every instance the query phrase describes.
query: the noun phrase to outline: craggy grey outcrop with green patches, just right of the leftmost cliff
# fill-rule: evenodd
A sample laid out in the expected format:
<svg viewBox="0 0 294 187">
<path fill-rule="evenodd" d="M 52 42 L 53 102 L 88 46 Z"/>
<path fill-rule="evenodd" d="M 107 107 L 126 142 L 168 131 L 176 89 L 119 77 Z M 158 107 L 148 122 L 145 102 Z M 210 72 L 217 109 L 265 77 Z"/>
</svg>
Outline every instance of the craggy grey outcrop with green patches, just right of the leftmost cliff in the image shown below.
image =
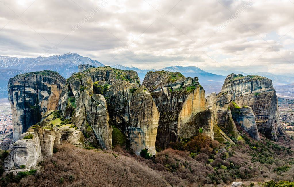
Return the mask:
<svg viewBox="0 0 294 187">
<path fill-rule="evenodd" d="M 91 77 L 76 73 L 66 83 L 59 100 L 65 118 L 70 118 L 93 145 L 112 150 L 112 128 L 103 95 L 93 94 Z"/>
</svg>

